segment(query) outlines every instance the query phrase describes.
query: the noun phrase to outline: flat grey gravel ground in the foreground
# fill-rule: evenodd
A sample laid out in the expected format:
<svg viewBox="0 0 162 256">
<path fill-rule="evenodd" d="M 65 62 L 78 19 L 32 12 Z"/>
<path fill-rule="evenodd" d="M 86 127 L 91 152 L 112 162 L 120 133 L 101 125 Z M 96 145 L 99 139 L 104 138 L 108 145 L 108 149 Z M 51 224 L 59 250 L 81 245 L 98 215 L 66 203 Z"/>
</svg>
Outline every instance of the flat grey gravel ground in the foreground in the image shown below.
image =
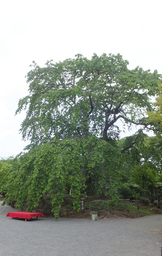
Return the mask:
<svg viewBox="0 0 162 256">
<path fill-rule="evenodd" d="M 161 235 L 162 215 L 24 221 L 0 214 L 0 256 L 161 256 Z"/>
</svg>

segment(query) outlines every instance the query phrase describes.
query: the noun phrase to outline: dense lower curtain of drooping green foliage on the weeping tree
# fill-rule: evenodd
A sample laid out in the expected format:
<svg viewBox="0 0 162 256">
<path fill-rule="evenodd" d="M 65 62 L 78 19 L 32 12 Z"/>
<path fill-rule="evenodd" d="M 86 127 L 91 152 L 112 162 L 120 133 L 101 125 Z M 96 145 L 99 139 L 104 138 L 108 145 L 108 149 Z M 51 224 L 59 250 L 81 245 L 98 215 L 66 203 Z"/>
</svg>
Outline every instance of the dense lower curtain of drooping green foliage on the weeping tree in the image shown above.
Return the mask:
<svg viewBox="0 0 162 256">
<path fill-rule="evenodd" d="M 91 175 L 92 180 L 98 181 L 96 193 L 100 194 L 106 187 L 115 200 L 119 178 L 114 163 L 118 165 L 118 153 L 117 147 L 91 134 L 88 138 L 53 139 L 19 157 L 6 198 L 16 198 L 16 207 L 21 209 L 27 203 L 27 211 L 32 211 L 42 196 L 50 193 L 52 212 L 57 219 L 67 180 L 70 180 L 73 207 L 80 211 L 79 195 L 86 189 L 86 179 Z"/>
</svg>

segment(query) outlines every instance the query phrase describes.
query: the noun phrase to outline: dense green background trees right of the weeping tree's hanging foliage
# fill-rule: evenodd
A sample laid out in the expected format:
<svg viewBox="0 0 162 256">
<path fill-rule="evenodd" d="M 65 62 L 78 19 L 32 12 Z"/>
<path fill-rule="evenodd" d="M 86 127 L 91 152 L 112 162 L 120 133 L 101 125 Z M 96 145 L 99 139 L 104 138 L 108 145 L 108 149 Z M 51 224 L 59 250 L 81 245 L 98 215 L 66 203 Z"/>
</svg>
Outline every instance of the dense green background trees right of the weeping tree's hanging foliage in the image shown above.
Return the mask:
<svg viewBox="0 0 162 256">
<path fill-rule="evenodd" d="M 121 148 L 124 148 L 120 162 L 122 177 L 120 194 L 123 197 L 124 194 L 132 197 L 132 193 L 126 188 L 127 185 L 129 187 L 131 185 L 134 188 L 138 186 L 138 189 L 134 191 L 136 195 L 133 195 L 133 199 L 144 196 L 153 199 L 150 191 L 160 182 L 162 158 L 161 150 L 150 147 L 147 141 L 148 135 L 142 130 L 119 141 Z"/>
</svg>

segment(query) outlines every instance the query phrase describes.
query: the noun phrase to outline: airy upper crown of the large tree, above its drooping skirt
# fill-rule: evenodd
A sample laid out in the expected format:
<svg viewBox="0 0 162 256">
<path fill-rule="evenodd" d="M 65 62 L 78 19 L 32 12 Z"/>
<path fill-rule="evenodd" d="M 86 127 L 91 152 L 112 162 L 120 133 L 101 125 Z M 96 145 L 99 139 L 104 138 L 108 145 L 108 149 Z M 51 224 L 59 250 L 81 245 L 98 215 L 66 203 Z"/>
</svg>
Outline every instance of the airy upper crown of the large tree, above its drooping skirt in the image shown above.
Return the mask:
<svg viewBox="0 0 162 256">
<path fill-rule="evenodd" d="M 27 74 L 29 95 L 19 101 L 16 113 L 27 109 L 21 124 L 23 139 L 31 144 L 51 137 L 72 138 L 91 132 L 105 141 L 118 138 L 118 119 L 146 126 L 150 96 L 156 94 L 160 75 L 136 67 L 129 70 L 122 56 L 106 54 L 91 60 L 82 55 L 41 68 L 33 62 Z"/>
</svg>

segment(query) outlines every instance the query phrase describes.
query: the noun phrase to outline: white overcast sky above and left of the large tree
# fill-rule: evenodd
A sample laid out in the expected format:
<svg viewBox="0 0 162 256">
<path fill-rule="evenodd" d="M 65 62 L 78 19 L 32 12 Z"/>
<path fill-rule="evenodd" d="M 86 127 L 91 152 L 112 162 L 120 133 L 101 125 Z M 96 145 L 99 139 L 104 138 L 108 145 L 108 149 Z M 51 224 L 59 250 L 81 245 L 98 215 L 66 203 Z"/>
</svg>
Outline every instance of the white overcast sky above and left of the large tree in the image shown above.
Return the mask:
<svg viewBox="0 0 162 256">
<path fill-rule="evenodd" d="M 161 0 L 4 0 L 0 2 L 0 157 L 16 156 L 29 142 L 15 116 L 28 94 L 26 73 L 81 53 L 120 53 L 144 70 L 162 73 Z"/>
</svg>

